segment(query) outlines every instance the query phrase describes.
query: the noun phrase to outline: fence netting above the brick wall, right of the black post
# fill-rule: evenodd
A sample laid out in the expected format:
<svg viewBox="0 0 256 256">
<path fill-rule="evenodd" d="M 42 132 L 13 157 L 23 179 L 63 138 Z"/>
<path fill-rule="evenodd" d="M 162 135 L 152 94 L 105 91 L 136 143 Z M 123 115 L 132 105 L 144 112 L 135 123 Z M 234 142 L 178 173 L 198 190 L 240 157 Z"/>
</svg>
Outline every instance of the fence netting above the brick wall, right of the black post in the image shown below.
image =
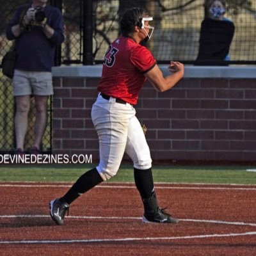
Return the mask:
<svg viewBox="0 0 256 256">
<path fill-rule="evenodd" d="M 147 47 L 159 63 L 179 60 L 193 64 L 199 47 L 200 26 L 209 0 L 93 1 L 95 8 L 95 61 L 118 35 L 118 17 L 125 8 L 143 6 L 154 20 L 154 35 Z M 230 47 L 230 64 L 256 63 L 256 1 L 227 0 L 227 19 L 236 27 Z M 99 49 L 97 45 L 100 45 Z"/>
</svg>

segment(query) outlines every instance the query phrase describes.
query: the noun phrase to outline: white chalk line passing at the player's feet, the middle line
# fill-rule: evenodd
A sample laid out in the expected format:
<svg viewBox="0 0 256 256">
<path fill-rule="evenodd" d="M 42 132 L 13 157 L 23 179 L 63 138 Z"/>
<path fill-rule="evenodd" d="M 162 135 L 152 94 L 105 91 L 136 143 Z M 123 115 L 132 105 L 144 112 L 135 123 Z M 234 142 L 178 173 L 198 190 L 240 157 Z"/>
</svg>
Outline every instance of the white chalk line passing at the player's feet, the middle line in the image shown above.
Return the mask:
<svg viewBox="0 0 256 256">
<path fill-rule="evenodd" d="M 0 215 L 0 219 L 14 219 L 14 218 L 50 218 L 49 215 L 28 215 L 28 214 L 18 214 L 18 215 Z M 131 216 L 65 216 L 65 219 L 91 219 L 91 220 L 141 220 L 141 217 L 131 217 Z M 179 219 L 179 221 L 188 222 L 200 222 L 200 223 L 213 223 L 213 224 L 223 224 L 223 225 L 238 225 L 238 226 L 252 226 L 256 227 L 256 223 L 245 223 L 243 221 L 221 221 L 221 220 L 193 220 L 193 219 Z"/>
</svg>

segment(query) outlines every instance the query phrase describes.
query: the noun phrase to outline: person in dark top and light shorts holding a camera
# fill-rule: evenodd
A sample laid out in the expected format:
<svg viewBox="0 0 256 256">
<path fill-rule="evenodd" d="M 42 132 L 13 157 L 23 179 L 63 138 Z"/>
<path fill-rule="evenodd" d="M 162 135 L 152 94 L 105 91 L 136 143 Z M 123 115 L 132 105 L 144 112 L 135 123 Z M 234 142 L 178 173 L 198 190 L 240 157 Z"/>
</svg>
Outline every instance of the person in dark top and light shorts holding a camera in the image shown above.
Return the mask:
<svg viewBox="0 0 256 256">
<path fill-rule="evenodd" d="M 35 98 L 35 140 L 31 154 L 40 154 L 47 124 L 47 99 L 53 94 L 51 68 L 56 46 L 64 40 L 61 12 L 47 0 L 33 0 L 15 12 L 6 29 L 8 40 L 15 40 L 17 60 L 13 76 L 15 96 L 16 154 L 24 154 L 31 97 Z"/>
</svg>

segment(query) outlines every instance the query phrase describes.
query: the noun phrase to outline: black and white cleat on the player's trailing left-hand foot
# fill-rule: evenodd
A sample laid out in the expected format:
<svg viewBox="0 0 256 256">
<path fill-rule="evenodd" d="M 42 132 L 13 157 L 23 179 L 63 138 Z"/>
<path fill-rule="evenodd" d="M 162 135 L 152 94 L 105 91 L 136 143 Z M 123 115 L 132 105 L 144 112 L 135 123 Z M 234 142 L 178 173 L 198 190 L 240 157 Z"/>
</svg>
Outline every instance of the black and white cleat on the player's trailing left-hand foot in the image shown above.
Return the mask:
<svg viewBox="0 0 256 256">
<path fill-rule="evenodd" d="M 65 213 L 66 211 L 68 213 L 68 210 L 69 210 L 69 204 L 62 203 L 58 198 L 56 198 L 51 202 L 49 202 L 49 207 L 50 207 L 50 214 L 51 214 L 52 220 L 57 225 L 63 225 Z"/>
</svg>

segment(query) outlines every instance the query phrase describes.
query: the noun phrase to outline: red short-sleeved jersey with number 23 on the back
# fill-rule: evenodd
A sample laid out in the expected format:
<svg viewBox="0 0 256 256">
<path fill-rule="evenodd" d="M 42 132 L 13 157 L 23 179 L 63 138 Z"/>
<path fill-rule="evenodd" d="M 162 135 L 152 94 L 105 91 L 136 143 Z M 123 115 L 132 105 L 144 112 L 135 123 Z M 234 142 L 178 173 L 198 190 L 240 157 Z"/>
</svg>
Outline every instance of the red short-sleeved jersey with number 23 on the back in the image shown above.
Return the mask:
<svg viewBox="0 0 256 256">
<path fill-rule="evenodd" d="M 146 81 L 144 74 L 155 65 L 156 60 L 146 47 L 121 36 L 106 52 L 98 90 L 135 105 Z"/>
</svg>

